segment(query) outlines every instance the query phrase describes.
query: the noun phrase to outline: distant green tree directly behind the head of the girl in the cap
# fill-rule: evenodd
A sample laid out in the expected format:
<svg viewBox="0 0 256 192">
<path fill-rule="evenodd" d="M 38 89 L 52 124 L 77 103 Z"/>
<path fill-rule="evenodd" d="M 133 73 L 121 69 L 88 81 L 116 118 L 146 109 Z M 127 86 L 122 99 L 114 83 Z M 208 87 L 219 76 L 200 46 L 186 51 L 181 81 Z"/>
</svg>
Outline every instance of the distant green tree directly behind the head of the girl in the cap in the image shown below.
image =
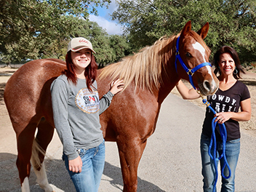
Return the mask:
<svg viewBox="0 0 256 192">
<path fill-rule="evenodd" d="M 69 28 L 72 30 L 66 36 L 60 36 L 58 41 L 55 40 L 49 44 L 41 45 L 41 58 L 55 57 L 65 60 L 68 42 L 73 37 L 78 36 L 83 36 L 92 42 L 93 49 L 96 52 L 95 59 L 100 68 L 118 61 L 125 54 L 129 54 L 129 45 L 125 36 L 109 36 L 97 23 L 84 20 L 81 17 L 73 17 L 72 15 L 63 17 L 69 21 Z"/>
</svg>

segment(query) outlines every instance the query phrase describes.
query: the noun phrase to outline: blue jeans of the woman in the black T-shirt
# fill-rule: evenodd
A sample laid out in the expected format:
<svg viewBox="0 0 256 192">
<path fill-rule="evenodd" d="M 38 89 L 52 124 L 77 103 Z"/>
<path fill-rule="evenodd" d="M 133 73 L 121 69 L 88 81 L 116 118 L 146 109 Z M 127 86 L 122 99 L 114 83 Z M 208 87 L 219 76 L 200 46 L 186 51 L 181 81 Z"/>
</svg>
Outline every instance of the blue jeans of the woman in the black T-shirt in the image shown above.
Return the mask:
<svg viewBox="0 0 256 192">
<path fill-rule="evenodd" d="M 201 135 L 201 164 L 202 164 L 202 175 L 204 177 L 204 192 L 212 192 L 214 183 L 215 183 L 215 166 L 214 161 L 210 158 L 208 153 L 210 139 Z M 213 148 L 213 147 L 212 147 Z M 218 158 L 222 154 L 223 144 L 222 142 L 217 142 L 217 154 L 216 158 Z M 231 177 L 225 179 L 222 177 L 222 185 L 221 192 L 234 192 L 235 191 L 235 172 L 236 172 L 236 164 L 239 160 L 240 153 L 240 139 L 231 140 L 225 143 L 225 155 L 228 161 L 228 165 L 231 168 Z M 218 163 L 218 162 L 217 162 Z M 224 160 L 220 159 L 220 170 L 223 169 Z M 228 167 L 224 169 L 225 177 L 228 177 Z M 216 188 L 215 188 L 216 191 Z"/>
</svg>

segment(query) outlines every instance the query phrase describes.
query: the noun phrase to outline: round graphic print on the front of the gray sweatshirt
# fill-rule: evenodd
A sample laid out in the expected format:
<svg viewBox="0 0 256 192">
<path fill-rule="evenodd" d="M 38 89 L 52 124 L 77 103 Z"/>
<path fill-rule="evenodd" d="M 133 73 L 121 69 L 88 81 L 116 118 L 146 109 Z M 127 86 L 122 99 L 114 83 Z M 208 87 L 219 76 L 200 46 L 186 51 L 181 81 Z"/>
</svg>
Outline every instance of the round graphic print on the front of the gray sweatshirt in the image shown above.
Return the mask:
<svg viewBox="0 0 256 192">
<path fill-rule="evenodd" d="M 89 89 L 80 89 L 76 95 L 76 106 L 84 113 L 96 113 L 100 110 L 100 100 L 97 91 L 89 92 Z"/>
</svg>

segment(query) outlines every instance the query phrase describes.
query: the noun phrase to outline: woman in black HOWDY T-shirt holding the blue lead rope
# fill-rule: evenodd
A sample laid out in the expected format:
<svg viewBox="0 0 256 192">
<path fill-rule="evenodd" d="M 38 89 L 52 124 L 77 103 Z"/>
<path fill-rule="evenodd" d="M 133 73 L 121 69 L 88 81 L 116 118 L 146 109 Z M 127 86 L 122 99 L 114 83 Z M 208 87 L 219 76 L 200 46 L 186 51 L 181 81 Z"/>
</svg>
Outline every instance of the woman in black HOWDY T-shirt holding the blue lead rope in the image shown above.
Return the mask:
<svg viewBox="0 0 256 192">
<path fill-rule="evenodd" d="M 240 128 L 239 121 L 249 121 L 251 118 L 251 99 L 249 90 L 241 79 L 240 73 L 244 73 L 241 68 L 239 56 L 232 47 L 221 47 L 214 56 L 212 65 L 215 66 L 215 74 L 220 81 L 219 89 L 214 95 L 207 96 L 207 100 L 212 108 L 216 111 L 214 114 L 209 108 L 205 113 L 203 129 L 201 133 L 201 163 L 202 175 L 204 177 L 204 192 L 216 191 L 215 178 L 216 170 L 214 160 L 209 156 L 209 144 L 212 137 L 212 119 L 219 124 L 225 123 L 227 130 L 227 140 L 225 143 L 225 155 L 228 165 L 231 168 L 231 177 L 228 177 L 228 168 L 225 167 L 222 177 L 222 192 L 235 191 L 235 172 L 236 164 L 240 153 Z M 177 90 L 183 99 L 193 100 L 199 98 L 200 95 L 196 90 L 188 89 L 182 81 L 176 85 Z M 240 111 L 239 111 L 240 108 Z M 217 158 L 223 153 L 223 142 L 220 137 L 220 129 L 215 129 L 217 140 Z M 223 169 L 224 159 L 220 159 L 220 167 Z"/>
</svg>

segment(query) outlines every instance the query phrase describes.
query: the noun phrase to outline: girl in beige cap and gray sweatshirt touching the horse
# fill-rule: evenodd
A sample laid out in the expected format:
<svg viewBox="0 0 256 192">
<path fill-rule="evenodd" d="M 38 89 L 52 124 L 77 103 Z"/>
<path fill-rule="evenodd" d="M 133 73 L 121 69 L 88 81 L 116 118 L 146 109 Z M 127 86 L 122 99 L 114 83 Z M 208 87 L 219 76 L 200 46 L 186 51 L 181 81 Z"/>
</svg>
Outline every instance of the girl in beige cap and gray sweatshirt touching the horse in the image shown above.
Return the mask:
<svg viewBox="0 0 256 192">
<path fill-rule="evenodd" d="M 63 143 L 63 160 L 76 191 L 97 192 L 105 164 L 105 141 L 100 113 L 123 88 L 121 80 L 101 99 L 95 81 L 97 64 L 92 44 L 73 38 L 65 57 L 67 69 L 52 82 L 52 110 L 55 128 Z"/>
</svg>

